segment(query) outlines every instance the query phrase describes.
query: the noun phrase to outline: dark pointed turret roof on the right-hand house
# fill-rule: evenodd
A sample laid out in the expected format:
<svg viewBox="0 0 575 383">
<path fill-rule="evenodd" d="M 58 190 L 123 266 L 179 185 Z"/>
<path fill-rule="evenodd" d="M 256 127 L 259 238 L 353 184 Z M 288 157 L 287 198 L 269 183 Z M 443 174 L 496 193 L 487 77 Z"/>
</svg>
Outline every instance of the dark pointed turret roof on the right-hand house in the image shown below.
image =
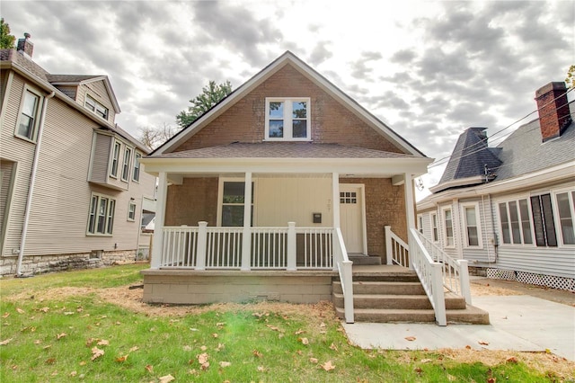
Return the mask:
<svg viewBox="0 0 575 383">
<path fill-rule="evenodd" d="M 469 128 L 459 136 L 439 185 L 457 179 L 484 175 L 485 165 L 491 169 L 501 164 L 496 151 L 487 147 L 486 129 Z"/>
</svg>

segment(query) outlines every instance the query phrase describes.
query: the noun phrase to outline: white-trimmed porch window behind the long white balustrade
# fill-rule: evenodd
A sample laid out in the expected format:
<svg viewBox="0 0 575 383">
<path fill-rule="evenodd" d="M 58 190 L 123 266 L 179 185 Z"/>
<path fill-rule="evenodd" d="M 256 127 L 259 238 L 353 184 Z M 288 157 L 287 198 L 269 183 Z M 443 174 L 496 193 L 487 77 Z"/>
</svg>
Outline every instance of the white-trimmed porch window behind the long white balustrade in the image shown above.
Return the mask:
<svg viewBox="0 0 575 383">
<path fill-rule="evenodd" d="M 245 183 L 224 181 L 221 200 L 221 226 L 243 227 L 243 206 L 245 204 Z M 252 183 L 252 225 L 253 225 L 253 183 Z"/>
</svg>

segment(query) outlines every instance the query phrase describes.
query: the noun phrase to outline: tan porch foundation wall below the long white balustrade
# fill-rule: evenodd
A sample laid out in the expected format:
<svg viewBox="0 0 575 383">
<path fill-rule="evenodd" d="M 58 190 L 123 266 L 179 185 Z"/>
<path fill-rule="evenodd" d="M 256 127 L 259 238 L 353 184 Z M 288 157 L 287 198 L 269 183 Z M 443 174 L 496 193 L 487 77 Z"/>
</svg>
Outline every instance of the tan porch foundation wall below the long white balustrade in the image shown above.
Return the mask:
<svg viewBox="0 0 575 383">
<path fill-rule="evenodd" d="M 144 302 L 207 304 L 276 300 L 316 303 L 332 300 L 332 273 L 186 272 L 146 270 Z"/>
</svg>

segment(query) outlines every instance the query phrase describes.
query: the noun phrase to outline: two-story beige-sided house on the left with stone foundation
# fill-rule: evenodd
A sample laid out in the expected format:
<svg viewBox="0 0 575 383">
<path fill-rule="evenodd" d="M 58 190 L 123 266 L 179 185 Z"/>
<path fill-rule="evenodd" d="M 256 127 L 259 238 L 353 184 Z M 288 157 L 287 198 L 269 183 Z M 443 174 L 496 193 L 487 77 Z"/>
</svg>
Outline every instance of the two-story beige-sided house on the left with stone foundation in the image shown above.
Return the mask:
<svg viewBox="0 0 575 383">
<path fill-rule="evenodd" d="M 148 151 L 114 123 L 107 76 L 50 74 L 32 49 L 0 50 L 0 274 L 134 260 Z"/>
</svg>

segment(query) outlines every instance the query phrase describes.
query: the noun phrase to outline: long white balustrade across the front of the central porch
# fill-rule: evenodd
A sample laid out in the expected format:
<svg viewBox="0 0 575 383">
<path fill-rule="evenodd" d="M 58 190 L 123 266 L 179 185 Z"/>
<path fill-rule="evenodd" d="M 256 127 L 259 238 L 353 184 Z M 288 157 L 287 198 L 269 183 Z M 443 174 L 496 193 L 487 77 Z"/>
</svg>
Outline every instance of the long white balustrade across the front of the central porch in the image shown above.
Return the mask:
<svg viewBox="0 0 575 383">
<path fill-rule="evenodd" d="M 164 227 L 162 268 L 333 270 L 332 227 Z M 249 256 L 243 258 L 243 242 Z M 346 254 L 347 255 L 347 254 Z M 248 260 L 247 262 L 243 260 Z M 243 264 L 249 263 L 249 264 Z"/>
</svg>

